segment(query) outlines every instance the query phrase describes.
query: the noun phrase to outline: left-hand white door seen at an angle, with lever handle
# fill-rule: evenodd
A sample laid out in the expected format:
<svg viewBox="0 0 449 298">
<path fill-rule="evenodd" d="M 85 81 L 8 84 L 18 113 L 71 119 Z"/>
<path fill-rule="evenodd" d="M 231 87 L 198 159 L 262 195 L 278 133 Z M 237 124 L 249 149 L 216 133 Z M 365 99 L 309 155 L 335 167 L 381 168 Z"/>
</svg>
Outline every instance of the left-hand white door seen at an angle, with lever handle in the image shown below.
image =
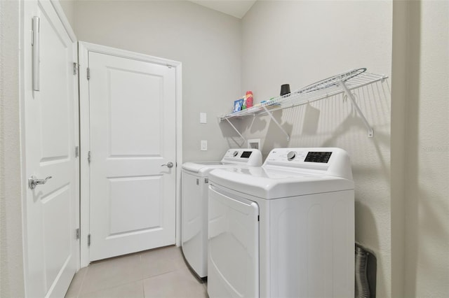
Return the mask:
<svg viewBox="0 0 449 298">
<path fill-rule="evenodd" d="M 64 297 L 79 264 L 76 43 L 50 1 L 24 1 L 24 9 L 25 171 L 26 178 L 48 178 L 26 188 L 25 286 L 28 297 Z M 35 60 L 33 17 L 40 20 Z M 40 62 L 40 69 L 34 66 L 40 91 L 33 91 L 33 62 Z"/>
</svg>

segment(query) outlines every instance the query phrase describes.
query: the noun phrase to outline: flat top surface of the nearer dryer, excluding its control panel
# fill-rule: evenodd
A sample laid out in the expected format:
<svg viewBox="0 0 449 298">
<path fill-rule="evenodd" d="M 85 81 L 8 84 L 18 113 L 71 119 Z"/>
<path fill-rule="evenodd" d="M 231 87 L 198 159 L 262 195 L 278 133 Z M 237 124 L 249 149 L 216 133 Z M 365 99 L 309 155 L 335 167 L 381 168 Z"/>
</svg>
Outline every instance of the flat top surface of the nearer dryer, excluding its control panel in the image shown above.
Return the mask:
<svg viewBox="0 0 449 298">
<path fill-rule="evenodd" d="M 215 169 L 209 173 L 209 183 L 262 199 L 354 190 L 354 181 L 345 178 L 263 167 Z"/>
</svg>

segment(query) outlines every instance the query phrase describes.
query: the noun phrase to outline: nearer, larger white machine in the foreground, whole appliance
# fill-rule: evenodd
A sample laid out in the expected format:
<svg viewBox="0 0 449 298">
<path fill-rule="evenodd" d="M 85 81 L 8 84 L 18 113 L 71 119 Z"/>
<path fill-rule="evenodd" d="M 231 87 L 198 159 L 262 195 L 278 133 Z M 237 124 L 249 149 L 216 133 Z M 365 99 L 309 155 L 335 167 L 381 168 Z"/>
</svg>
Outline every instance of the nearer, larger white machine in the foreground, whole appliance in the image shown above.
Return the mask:
<svg viewBox="0 0 449 298">
<path fill-rule="evenodd" d="M 339 148 L 209 174 L 208 294 L 354 297 L 354 181 Z"/>
</svg>

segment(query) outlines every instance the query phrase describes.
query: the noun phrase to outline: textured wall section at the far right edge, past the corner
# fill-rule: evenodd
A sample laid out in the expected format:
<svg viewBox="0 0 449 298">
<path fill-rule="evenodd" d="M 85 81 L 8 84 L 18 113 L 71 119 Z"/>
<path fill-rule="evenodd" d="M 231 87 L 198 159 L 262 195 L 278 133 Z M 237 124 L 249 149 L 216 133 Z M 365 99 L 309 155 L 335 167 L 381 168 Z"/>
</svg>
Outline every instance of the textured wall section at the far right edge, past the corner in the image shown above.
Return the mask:
<svg viewBox="0 0 449 298">
<path fill-rule="evenodd" d="M 404 297 L 449 292 L 449 2 L 408 6 Z"/>
</svg>

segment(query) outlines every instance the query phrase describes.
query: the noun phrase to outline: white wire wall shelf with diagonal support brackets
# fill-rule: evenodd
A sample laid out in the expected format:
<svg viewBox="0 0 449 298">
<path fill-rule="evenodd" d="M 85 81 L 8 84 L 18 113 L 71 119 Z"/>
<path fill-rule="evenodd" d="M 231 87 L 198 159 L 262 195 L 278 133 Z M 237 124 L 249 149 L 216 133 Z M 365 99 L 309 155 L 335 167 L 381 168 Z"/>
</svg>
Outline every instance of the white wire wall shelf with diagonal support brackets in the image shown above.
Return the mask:
<svg viewBox="0 0 449 298">
<path fill-rule="evenodd" d="M 272 113 L 274 111 L 278 111 L 284 108 L 293 108 L 294 106 L 299 106 L 301 104 L 307 104 L 312 101 L 317 101 L 320 99 L 325 99 L 328 97 L 332 97 L 334 95 L 345 93 L 349 99 L 351 99 L 351 103 L 356 109 L 358 115 L 360 115 L 363 123 L 366 125 L 368 129 L 368 137 L 373 137 L 374 131 L 373 127 L 370 126 L 368 120 L 366 120 L 365 115 L 363 115 L 361 109 L 356 104 L 356 99 L 354 98 L 354 94 L 352 94 L 351 90 L 354 90 L 359 87 L 363 87 L 369 84 L 373 84 L 376 82 L 383 82 L 388 76 L 377 75 L 374 73 L 366 72 L 366 69 L 353 69 L 351 71 L 346 71 L 344 73 L 337 74 L 336 76 L 332 76 L 330 78 L 326 78 L 324 80 L 320 80 L 319 82 L 313 83 L 306 87 L 302 87 L 298 90 L 291 92 L 290 94 L 283 95 L 281 97 L 276 97 L 274 99 L 270 99 L 269 101 L 265 101 L 260 104 L 256 104 L 251 108 L 247 108 L 245 110 L 230 113 L 227 115 L 222 115 L 219 117 L 219 122 L 226 120 L 229 125 L 234 128 L 234 130 L 241 136 L 244 140 L 245 138 L 239 132 L 236 127 L 232 124 L 229 119 L 231 118 L 241 118 L 248 115 L 269 115 L 269 117 L 279 126 L 281 131 L 286 134 L 287 141 L 290 140 L 290 136 L 288 133 L 281 127 L 279 122 L 273 117 Z"/>
</svg>

